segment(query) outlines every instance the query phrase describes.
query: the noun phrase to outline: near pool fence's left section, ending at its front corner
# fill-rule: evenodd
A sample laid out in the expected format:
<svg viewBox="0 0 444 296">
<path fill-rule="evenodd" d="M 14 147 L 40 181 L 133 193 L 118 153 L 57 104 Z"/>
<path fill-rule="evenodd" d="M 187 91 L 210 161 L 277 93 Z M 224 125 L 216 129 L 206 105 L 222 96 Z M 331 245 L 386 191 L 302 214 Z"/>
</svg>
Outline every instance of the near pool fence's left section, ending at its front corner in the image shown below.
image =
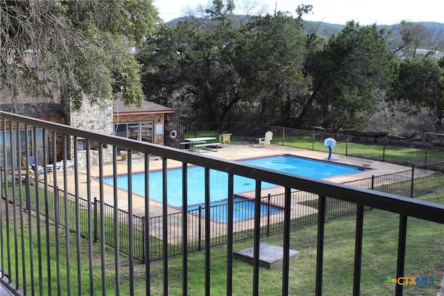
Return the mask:
<svg viewBox="0 0 444 296">
<path fill-rule="evenodd" d="M 4 175 L 3 168 L 1 169 L 2 175 Z M 128 244 L 128 211 L 123 211 L 110 204 L 103 203 L 97 198 L 94 198 L 91 204 L 87 200 L 76 197 L 71 193 L 65 192 L 61 189 L 54 189 L 50 184 L 44 184 L 40 182 L 39 186 L 27 186 L 23 178 L 16 177 L 11 178 L 7 182 L 3 182 L 6 186 L 2 188 L 2 197 L 5 196 L 4 190 L 8 188 L 9 194 L 13 191 L 22 192 L 14 200 L 17 206 L 22 205 L 24 211 L 35 211 L 40 213 L 40 216 L 58 223 L 62 227 L 67 227 L 71 232 L 79 232 L 80 236 L 89 238 L 89 225 L 88 221 L 91 218 L 92 226 L 92 240 L 103 241 L 105 244 L 111 247 L 119 247 L 120 252 L 124 254 L 130 254 L 130 246 Z M 12 200 L 10 200 L 12 202 Z M 56 215 L 55 209 L 59 212 Z M 91 209 L 92 217 L 88 216 L 88 209 Z M 103 209 L 101 214 L 100 209 Z M 114 214 L 117 211 L 117 223 L 114 221 Z M 56 218 L 58 216 L 59 218 Z M 135 242 L 135 259 L 144 261 L 144 218 L 133 215 L 131 219 L 134 227 L 134 242 Z M 101 225 L 105 227 L 105 236 L 102 238 L 100 231 Z M 119 243 L 114 236 L 114 227 L 119 226 L 119 233 L 121 239 Z M 78 227 L 80 226 L 80 227 Z M 80 231 L 78 230 L 80 229 Z M 122 239 L 123 238 L 123 239 Z"/>
</svg>

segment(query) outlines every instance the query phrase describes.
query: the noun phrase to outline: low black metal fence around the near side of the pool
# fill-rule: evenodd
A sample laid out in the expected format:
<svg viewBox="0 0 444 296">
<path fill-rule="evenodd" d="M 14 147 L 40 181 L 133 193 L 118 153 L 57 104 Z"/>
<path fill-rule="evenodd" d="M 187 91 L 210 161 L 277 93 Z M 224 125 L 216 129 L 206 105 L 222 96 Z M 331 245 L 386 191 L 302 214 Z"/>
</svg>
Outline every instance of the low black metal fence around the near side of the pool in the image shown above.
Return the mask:
<svg viewBox="0 0 444 296">
<path fill-rule="evenodd" d="M 413 167 L 411 170 L 402 171 L 398 173 L 391 173 L 387 175 L 372 176 L 360 180 L 354 180 L 345 182 L 350 186 L 355 186 L 362 189 L 372 189 L 376 191 L 382 191 L 385 193 L 391 193 L 402 196 L 414 196 L 428 193 L 430 191 L 444 189 L 444 162 L 435 164 L 429 164 L 426 166 Z M 16 184 L 10 184 L 9 188 L 12 191 L 14 186 L 22 186 L 24 196 L 26 200 L 17 200 L 17 204 L 25 204 L 24 209 L 31 209 L 37 211 L 37 207 L 40 207 L 40 213 L 44 213 L 50 220 L 55 221 L 55 213 L 53 213 L 55 207 L 55 199 L 58 198 L 58 207 L 62 209 L 59 213 L 62 219 L 59 219 L 59 225 L 63 227 L 69 227 L 70 231 L 76 231 L 76 221 L 80 225 L 81 236 L 87 238 L 89 233 L 87 209 L 91 207 L 93 217 L 93 236 L 94 241 L 102 240 L 111 247 L 119 248 L 123 254 L 130 254 L 130 245 L 128 243 L 128 221 L 133 223 L 133 241 L 134 241 L 134 258 L 145 262 L 148 260 L 162 259 L 162 248 L 164 241 L 162 240 L 162 216 L 149 218 L 149 229 L 151 234 L 150 239 L 150 254 L 144 254 L 144 217 L 136 215 L 129 218 L 129 213 L 121 209 L 117 209 L 110 204 L 100 204 L 100 200 L 94 198 L 92 204 L 88 204 L 87 200 L 76 197 L 71 193 L 64 192 L 60 189 L 54 190 L 53 186 L 47 184 L 47 190 L 44 189 L 44 183 L 41 182 L 40 186 L 31 186 L 31 194 L 27 194 L 27 187 L 22 178 L 15 178 Z M 12 193 L 12 192 L 11 192 Z M 45 195 L 46 193 L 46 195 Z M 50 197 L 48 193 L 52 193 Z M 38 197 L 38 200 L 37 200 Z M 77 202 L 76 202 L 77 200 Z M 291 227 L 299 227 L 301 225 L 307 225 L 317 222 L 318 211 L 318 196 L 314 193 L 308 193 L 303 191 L 293 191 L 291 193 L 291 200 L 295 202 L 291 208 Z M 66 203 L 66 204 L 65 204 Z M 268 195 L 262 197 L 262 204 L 264 205 L 264 211 L 262 213 L 262 227 L 260 229 L 261 235 L 268 236 L 272 232 L 281 232 L 284 225 L 282 224 L 282 214 L 284 205 L 284 194 Z M 79 209 L 78 209 L 79 207 Z M 210 206 L 210 216 L 212 223 L 211 232 L 214 234 L 220 234 L 219 236 L 212 237 L 210 245 L 222 245 L 227 242 L 226 238 L 226 219 L 227 219 L 227 207 L 228 204 L 218 204 Z M 238 198 L 234 202 L 234 209 L 237 212 L 237 218 L 234 220 L 234 241 L 241 241 L 246 238 L 253 237 L 253 225 L 251 223 L 254 214 L 255 204 L 252 200 L 245 198 Z M 66 209 L 67 214 L 65 214 Z M 103 209 L 103 215 L 100 213 L 100 209 Z M 115 214 L 117 211 L 117 214 Z M 327 200 L 327 212 L 326 218 L 336 218 L 339 216 L 345 216 L 356 213 L 356 206 L 350 202 L 343 200 Z M 114 221 L 114 217 L 117 215 L 117 221 Z M 187 211 L 189 226 L 188 226 L 188 239 L 189 241 L 187 250 L 189 252 L 195 250 L 201 250 L 205 245 L 205 238 L 203 237 L 205 220 L 205 205 L 195 207 Z M 67 219 L 65 219 L 65 217 Z M 168 255 L 175 256 L 182 254 L 182 240 L 180 239 L 182 213 L 169 214 L 167 216 L 168 224 L 170 227 L 171 236 L 177 238 L 176 241 L 168 243 Z M 103 223 L 105 235 L 101 237 L 102 232 L 99 231 Z M 114 236 L 116 225 L 119 226 L 119 233 L 121 239 L 117 243 Z"/>
</svg>

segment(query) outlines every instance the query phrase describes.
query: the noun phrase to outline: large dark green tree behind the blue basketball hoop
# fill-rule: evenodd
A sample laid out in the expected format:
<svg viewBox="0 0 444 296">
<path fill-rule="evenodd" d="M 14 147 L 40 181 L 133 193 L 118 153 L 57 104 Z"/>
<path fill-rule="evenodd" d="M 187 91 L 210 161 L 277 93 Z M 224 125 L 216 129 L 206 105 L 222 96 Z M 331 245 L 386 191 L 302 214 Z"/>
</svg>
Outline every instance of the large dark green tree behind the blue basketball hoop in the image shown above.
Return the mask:
<svg viewBox="0 0 444 296">
<path fill-rule="evenodd" d="M 357 128 L 357 116 L 373 112 L 375 88 L 385 89 L 392 79 L 383 31 L 348 22 L 323 49 L 310 55 L 307 71 L 313 89 L 298 124 Z"/>
</svg>

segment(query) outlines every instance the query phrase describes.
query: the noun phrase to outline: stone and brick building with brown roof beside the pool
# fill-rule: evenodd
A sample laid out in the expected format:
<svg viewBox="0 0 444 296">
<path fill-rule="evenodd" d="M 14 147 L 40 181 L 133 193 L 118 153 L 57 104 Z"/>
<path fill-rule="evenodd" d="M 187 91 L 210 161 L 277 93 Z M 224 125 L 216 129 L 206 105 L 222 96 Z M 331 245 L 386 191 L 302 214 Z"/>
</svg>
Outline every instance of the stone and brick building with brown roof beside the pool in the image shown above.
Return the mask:
<svg viewBox="0 0 444 296">
<path fill-rule="evenodd" d="M 148 101 L 145 101 L 141 107 L 126 106 L 120 98 L 95 105 L 89 105 L 85 101 L 80 110 L 74 111 L 70 106 L 64 107 L 60 103 L 51 103 L 46 98 L 21 96 L 15 97 L 15 100 L 12 101 L 10 94 L 4 89 L 0 93 L 0 110 L 160 145 L 164 144 L 164 122 L 167 121 L 169 114 L 175 112 L 169 107 Z M 39 132 L 37 131 L 37 133 Z M 37 141 L 42 137 L 42 132 L 40 132 Z M 28 139 L 33 139 L 33 137 L 28 137 Z M 51 149 L 51 137 L 49 137 L 49 143 L 49 149 Z M 91 143 L 90 159 L 92 164 L 98 164 L 99 161 L 98 151 L 95 151 L 98 144 Z M 85 147 L 84 140 L 78 139 L 78 159 L 80 161 L 86 160 Z M 72 159 L 74 157 L 74 139 L 68 139 L 67 148 L 67 158 Z M 60 161 L 63 158 L 61 139 L 58 140 L 57 150 L 56 161 Z M 24 151 L 23 149 L 23 153 L 25 153 Z M 42 151 L 37 151 L 37 153 L 40 155 Z M 103 161 L 111 162 L 112 149 L 105 147 L 103 153 Z M 31 154 L 34 153 L 31 151 Z M 49 151 L 50 162 L 53 162 L 52 155 L 52 152 Z M 39 159 L 42 157 L 39 156 Z"/>
</svg>

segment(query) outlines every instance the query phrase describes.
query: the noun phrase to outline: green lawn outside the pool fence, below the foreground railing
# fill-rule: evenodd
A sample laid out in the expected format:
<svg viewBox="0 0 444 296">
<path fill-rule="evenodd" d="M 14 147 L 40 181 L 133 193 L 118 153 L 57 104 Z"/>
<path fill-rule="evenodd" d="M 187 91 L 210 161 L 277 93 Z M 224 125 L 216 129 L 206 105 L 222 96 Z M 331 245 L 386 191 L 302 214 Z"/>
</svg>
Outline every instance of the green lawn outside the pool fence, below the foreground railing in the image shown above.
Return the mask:
<svg viewBox="0 0 444 296">
<path fill-rule="evenodd" d="M 444 203 L 444 191 L 424 195 L 423 200 Z M 10 227 L 10 231 L 11 231 Z M 37 229 L 32 227 L 34 258 L 38 256 Z M 405 275 L 408 277 L 434 277 L 436 283 L 433 286 L 405 286 L 404 295 L 436 295 L 439 288 L 441 277 L 444 276 L 444 231 L 443 225 L 428 223 L 422 220 L 409 218 L 408 238 L 407 238 L 407 260 Z M 49 240 L 51 250 L 57 243 L 55 227 L 51 225 Z M 3 225 L 3 235 L 6 234 L 6 225 Z M 60 245 L 65 245 L 65 230 L 59 229 Z M 70 272 L 71 279 L 74 281 L 71 290 L 76 293 L 76 241 L 75 234 L 69 234 L 71 260 Z M 41 229 L 41 242 L 46 241 L 46 232 Z M 262 242 L 282 245 L 282 233 L 278 232 L 269 237 L 261 238 Z M 21 243 L 21 241 L 19 241 Z M 28 235 L 24 237 L 25 245 L 29 245 Z M 395 277 L 396 255 L 398 244 L 398 216 L 379 210 L 366 211 L 364 219 L 364 246 L 362 259 L 362 277 L 361 292 L 362 295 L 393 295 L 393 289 L 384 284 L 388 276 Z M 252 239 L 246 239 L 234 243 L 234 250 L 241 250 L 244 247 L 253 245 Z M 44 246 L 44 243 L 42 243 Z M 101 243 L 94 243 L 94 262 L 101 259 Z M 325 295 L 350 295 L 352 293 L 353 280 L 353 254 L 355 247 L 355 217 L 346 216 L 344 218 L 334 218 L 328 220 L 325 227 L 325 254 L 323 270 L 323 292 Z M 316 275 L 316 225 L 307 225 L 291 230 L 291 249 L 300 251 L 300 259 L 290 263 L 290 295 L 309 295 L 314 293 L 315 275 Z M 42 249 L 45 258 L 46 247 Z M 107 250 L 107 286 L 108 293 L 112 294 L 114 289 L 114 263 L 112 249 Z M 6 250 L 3 250 L 5 252 Z M 67 292 L 66 270 L 67 249 L 60 249 L 60 270 L 62 270 L 62 293 Z M 13 255 L 13 250 L 10 250 Z M 87 254 L 87 241 L 83 238 L 81 241 L 81 273 L 83 286 L 86 288 L 88 283 L 87 271 L 89 268 Z M 56 254 L 51 252 L 51 269 L 56 270 Z M 30 262 L 31 254 L 26 253 L 26 262 Z M 212 247 L 211 249 L 211 293 L 220 295 L 225 293 L 226 284 L 226 246 Z M 34 260 L 35 261 L 35 260 Z M 121 290 L 123 294 L 128 292 L 129 267 L 128 258 L 121 255 Z M 189 295 L 204 294 L 205 279 L 205 252 L 189 253 Z M 21 266 L 19 270 L 21 270 Z M 26 266 L 29 270 L 29 265 Z M 37 266 L 35 276 L 37 277 Z M 43 270 L 43 290 L 47 291 L 46 265 Z M 162 261 L 151 263 L 151 294 L 162 295 Z M 169 258 L 169 293 L 170 295 L 181 294 L 182 279 L 182 256 L 173 256 Z M 136 295 L 145 295 L 144 290 L 144 264 L 135 265 L 135 293 Z M 99 293 L 101 285 L 101 270 L 94 266 L 94 290 Z M 251 295 L 251 286 L 253 283 L 253 266 L 250 263 L 234 259 L 233 287 L 234 295 Z M 280 295 L 282 283 L 281 268 L 261 268 L 260 269 L 259 293 L 261 295 Z M 55 275 L 51 279 L 56 282 Z M 37 288 L 37 286 L 35 287 Z M 29 292 L 29 288 L 28 288 Z M 86 290 L 83 291 L 87 293 Z M 56 294 L 53 286 L 53 293 Z"/>
</svg>

